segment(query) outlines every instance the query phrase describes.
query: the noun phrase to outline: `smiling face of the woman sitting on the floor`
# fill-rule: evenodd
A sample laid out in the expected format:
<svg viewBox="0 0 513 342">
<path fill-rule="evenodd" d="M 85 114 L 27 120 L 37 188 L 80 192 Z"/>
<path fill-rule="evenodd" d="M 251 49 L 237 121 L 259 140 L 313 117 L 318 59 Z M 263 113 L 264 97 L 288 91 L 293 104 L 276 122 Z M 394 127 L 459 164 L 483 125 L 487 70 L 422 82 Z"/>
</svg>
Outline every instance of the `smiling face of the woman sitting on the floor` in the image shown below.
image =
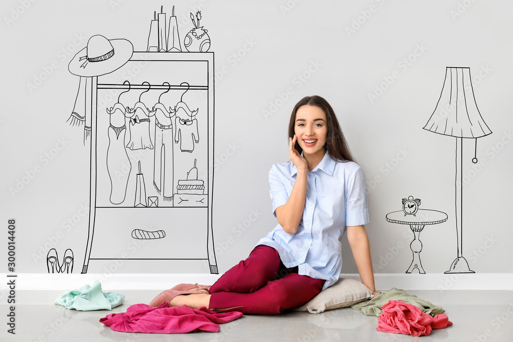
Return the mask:
<svg viewBox="0 0 513 342">
<path fill-rule="evenodd" d="M 295 114 L 294 132 L 305 154 L 324 155 L 328 134 L 326 114 L 317 106 L 301 106 Z"/>
</svg>

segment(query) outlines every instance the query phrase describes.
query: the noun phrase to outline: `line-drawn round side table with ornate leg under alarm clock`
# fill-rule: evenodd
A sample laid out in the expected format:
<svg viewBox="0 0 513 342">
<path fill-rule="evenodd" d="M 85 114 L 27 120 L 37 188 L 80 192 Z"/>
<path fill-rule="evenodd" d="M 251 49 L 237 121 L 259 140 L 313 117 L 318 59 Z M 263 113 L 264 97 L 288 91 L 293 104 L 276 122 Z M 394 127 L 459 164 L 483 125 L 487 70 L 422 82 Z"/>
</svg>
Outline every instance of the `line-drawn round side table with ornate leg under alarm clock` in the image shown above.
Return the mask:
<svg viewBox="0 0 513 342">
<path fill-rule="evenodd" d="M 417 268 L 419 273 L 425 274 L 424 268 L 420 261 L 420 252 L 422 251 L 422 242 L 420 240 L 420 232 L 424 229 L 425 225 L 436 225 L 447 220 L 447 214 L 437 210 L 419 209 L 416 216 L 404 215 L 404 211 L 394 211 L 386 215 L 386 220 L 390 223 L 398 223 L 401 225 L 410 225 L 413 232 L 413 240 L 410 244 L 411 252 L 413 253 L 413 260 L 411 265 L 406 270 L 406 273 L 411 273 L 413 269 Z"/>
</svg>

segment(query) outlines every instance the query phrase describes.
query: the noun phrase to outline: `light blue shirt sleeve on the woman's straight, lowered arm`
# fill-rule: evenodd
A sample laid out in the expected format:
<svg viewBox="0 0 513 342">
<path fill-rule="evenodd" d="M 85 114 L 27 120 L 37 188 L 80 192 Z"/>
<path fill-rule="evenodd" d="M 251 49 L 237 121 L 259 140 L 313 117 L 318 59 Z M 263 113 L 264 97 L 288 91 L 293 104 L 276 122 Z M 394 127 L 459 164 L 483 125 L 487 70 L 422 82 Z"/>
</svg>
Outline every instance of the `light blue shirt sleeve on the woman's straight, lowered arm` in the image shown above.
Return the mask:
<svg viewBox="0 0 513 342">
<path fill-rule="evenodd" d="M 369 223 L 367 187 L 360 166 L 349 176 L 346 187 L 346 226 L 360 226 Z"/>
</svg>

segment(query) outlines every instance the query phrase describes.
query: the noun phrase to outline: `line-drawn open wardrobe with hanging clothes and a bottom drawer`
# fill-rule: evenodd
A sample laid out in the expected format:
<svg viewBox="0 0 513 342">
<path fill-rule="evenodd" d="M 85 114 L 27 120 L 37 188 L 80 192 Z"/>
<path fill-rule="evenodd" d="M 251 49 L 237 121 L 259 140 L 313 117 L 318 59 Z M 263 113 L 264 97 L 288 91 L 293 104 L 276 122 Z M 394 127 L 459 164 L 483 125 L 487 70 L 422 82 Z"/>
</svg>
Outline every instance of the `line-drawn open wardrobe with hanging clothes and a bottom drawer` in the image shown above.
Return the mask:
<svg viewBox="0 0 513 342">
<path fill-rule="evenodd" d="M 133 267 L 134 272 L 218 274 L 212 231 L 214 89 L 208 82 L 213 63 L 211 52 L 134 52 L 122 68 L 92 77 L 90 212 L 82 273 L 90 260 L 111 260 L 103 261 L 107 265 L 123 260 L 117 264 L 124 273 Z M 188 120 L 180 113 L 186 111 L 176 109 L 184 103 L 194 113 L 194 130 L 181 132 L 190 146 L 185 151 L 185 142 L 181 148 L 172 131 L 175 118 Z M 144 114 L 139 122 L 132 116 L 137 106 L 148 114 L 141 127 L 150 127 L 150 141 L 128 147 L 132 137 L 126 130 L 117 165 L 108 163 L 108 110 L 114 105 L 128 107 L 127 128 L 141 122 Z M 120 179 L 125 198 L 113 203 L 111 191 Z"/>
</svg>

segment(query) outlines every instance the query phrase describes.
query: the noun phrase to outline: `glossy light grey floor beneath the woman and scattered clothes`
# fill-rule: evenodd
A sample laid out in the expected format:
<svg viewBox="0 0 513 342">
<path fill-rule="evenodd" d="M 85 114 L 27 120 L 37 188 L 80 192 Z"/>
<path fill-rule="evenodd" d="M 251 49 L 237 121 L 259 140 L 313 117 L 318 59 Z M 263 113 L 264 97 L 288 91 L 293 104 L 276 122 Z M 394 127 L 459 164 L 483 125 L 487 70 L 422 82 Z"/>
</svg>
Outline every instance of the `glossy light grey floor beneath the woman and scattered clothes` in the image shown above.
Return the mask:
<svg viewBox="0 0 513 342">
<path fill-rule="evenodd" d="M 115 291 L 115 290 L 112 290 Z M 376 331 L 378 317 L 351 308 L 321 314 L 286 312 L 274 316 L 244 315 L 222 324 L 218 333 L 180 335 L 137 334 L 112 331 L 99 323 L 101 317 L 124 312 L 137 303 L 148 303 L 160 291 L 117 291 L 125 304 L 112 311 L 75 311 L 52 304 L 58 291 L 17 291 L 16 334 L 7 333 L 8 306 L 0 305 L 0 341 L 410 341 L 416 337 Z M 433 330 L 422 341 L 513 341 L 513 291 L 456 291 L 440 293 L 407 290 L 442 306 L 453 322 Z"/>
</svg>

